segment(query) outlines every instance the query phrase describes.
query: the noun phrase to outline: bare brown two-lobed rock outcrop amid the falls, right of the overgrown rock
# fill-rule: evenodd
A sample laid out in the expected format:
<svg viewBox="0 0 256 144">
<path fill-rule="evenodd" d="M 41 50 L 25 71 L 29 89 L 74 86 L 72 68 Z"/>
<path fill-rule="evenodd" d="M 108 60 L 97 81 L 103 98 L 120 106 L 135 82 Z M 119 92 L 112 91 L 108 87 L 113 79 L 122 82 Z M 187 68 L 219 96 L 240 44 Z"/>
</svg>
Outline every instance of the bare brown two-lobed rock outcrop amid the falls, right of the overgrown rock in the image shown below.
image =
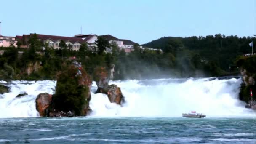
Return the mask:
<svg viewBox="0 0 256 144">
<path fill-rule="evenodd" d="M 108 72 L 104 67 L 97 67 L 93 74 L 98 89 L 96 93 L 107 94 L 109 101 L 121 105 L 124 102 L 124 96 L 117 85 L 109 85 Z"/>
</svg>

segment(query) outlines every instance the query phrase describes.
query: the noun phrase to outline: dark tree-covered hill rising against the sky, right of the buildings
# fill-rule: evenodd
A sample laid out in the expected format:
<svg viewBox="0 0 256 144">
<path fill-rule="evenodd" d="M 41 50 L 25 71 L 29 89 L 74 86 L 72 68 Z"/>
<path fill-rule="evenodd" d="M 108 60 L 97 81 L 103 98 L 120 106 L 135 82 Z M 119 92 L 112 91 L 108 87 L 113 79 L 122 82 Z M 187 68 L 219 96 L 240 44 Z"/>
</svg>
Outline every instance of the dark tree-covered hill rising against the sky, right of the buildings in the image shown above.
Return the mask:
<svg viewBox="0 0 256 144">
<path fill-rule="evenodd" d="M 228 71 L 237 56 L 251 53 L 249 43 L 256 43 L 255 37 L 225 36 L 221 34 L 206 37 L 161 37 L 144 44 L 147 48 L 159 48 L 175 57 L 198 54 L 202 61 L 214 61 L 221 69 Z M 254 50 L 255 50 L 254 45 Z"/>
</svg>

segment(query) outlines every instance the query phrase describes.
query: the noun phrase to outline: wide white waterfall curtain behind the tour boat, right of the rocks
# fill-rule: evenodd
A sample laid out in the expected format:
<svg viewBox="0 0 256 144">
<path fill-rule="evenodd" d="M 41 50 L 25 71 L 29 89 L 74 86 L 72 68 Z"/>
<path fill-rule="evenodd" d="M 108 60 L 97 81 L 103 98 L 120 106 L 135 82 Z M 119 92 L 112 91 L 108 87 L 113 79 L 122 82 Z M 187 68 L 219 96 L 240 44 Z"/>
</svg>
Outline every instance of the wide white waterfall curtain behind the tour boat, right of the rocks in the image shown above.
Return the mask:
<svg viewBox="0 0 256 144">
<path fill-rule="evenodd" d="M 181 80 L 181 79 L 172 79 Z M 111 104 L 104 94 L 93 94 L 91 116 L 100 117 L 181 117 L 184 112 L 197 111 L 207 117 L 255 117 L 245 102 L 239 100 L 241 79 L 209 80 L 171 79 L 110 81 L 121 88 L 125 104 Z"/>
</svg>

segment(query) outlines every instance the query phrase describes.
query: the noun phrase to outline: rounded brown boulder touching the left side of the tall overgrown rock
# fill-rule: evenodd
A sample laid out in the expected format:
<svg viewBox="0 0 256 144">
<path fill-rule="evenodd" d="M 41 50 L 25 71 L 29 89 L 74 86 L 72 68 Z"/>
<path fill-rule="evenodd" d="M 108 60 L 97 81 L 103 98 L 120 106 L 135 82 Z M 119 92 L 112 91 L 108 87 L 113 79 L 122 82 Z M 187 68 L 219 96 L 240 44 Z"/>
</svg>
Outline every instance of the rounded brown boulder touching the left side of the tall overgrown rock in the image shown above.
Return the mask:
<svg viewBox="0 0 256 144">
<path fill-rule="evenodd" d="M 35 100 L 36 109 L 39 112 L 41 117 L 45 117 L 47 115 L 48 107 L 52 102 L 52 95 L 49 93 L 40 93 L 37 95 Z"/>
</svg>

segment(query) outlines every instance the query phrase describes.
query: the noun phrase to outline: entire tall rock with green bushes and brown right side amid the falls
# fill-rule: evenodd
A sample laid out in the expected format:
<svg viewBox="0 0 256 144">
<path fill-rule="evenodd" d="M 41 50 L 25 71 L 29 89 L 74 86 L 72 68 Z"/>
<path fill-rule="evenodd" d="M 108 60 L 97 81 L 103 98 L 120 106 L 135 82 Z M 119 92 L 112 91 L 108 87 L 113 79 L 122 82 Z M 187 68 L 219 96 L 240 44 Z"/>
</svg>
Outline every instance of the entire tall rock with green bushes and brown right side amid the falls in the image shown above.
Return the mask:
<svg viewBox="0 0 256 144">
<path fill-rule="evenodd" d="M 86 116 L 91 109 L 91 77 L 81 67 L 71 65 L 57 78 L 56 93 L 48 116 Z"/>
</svg>

